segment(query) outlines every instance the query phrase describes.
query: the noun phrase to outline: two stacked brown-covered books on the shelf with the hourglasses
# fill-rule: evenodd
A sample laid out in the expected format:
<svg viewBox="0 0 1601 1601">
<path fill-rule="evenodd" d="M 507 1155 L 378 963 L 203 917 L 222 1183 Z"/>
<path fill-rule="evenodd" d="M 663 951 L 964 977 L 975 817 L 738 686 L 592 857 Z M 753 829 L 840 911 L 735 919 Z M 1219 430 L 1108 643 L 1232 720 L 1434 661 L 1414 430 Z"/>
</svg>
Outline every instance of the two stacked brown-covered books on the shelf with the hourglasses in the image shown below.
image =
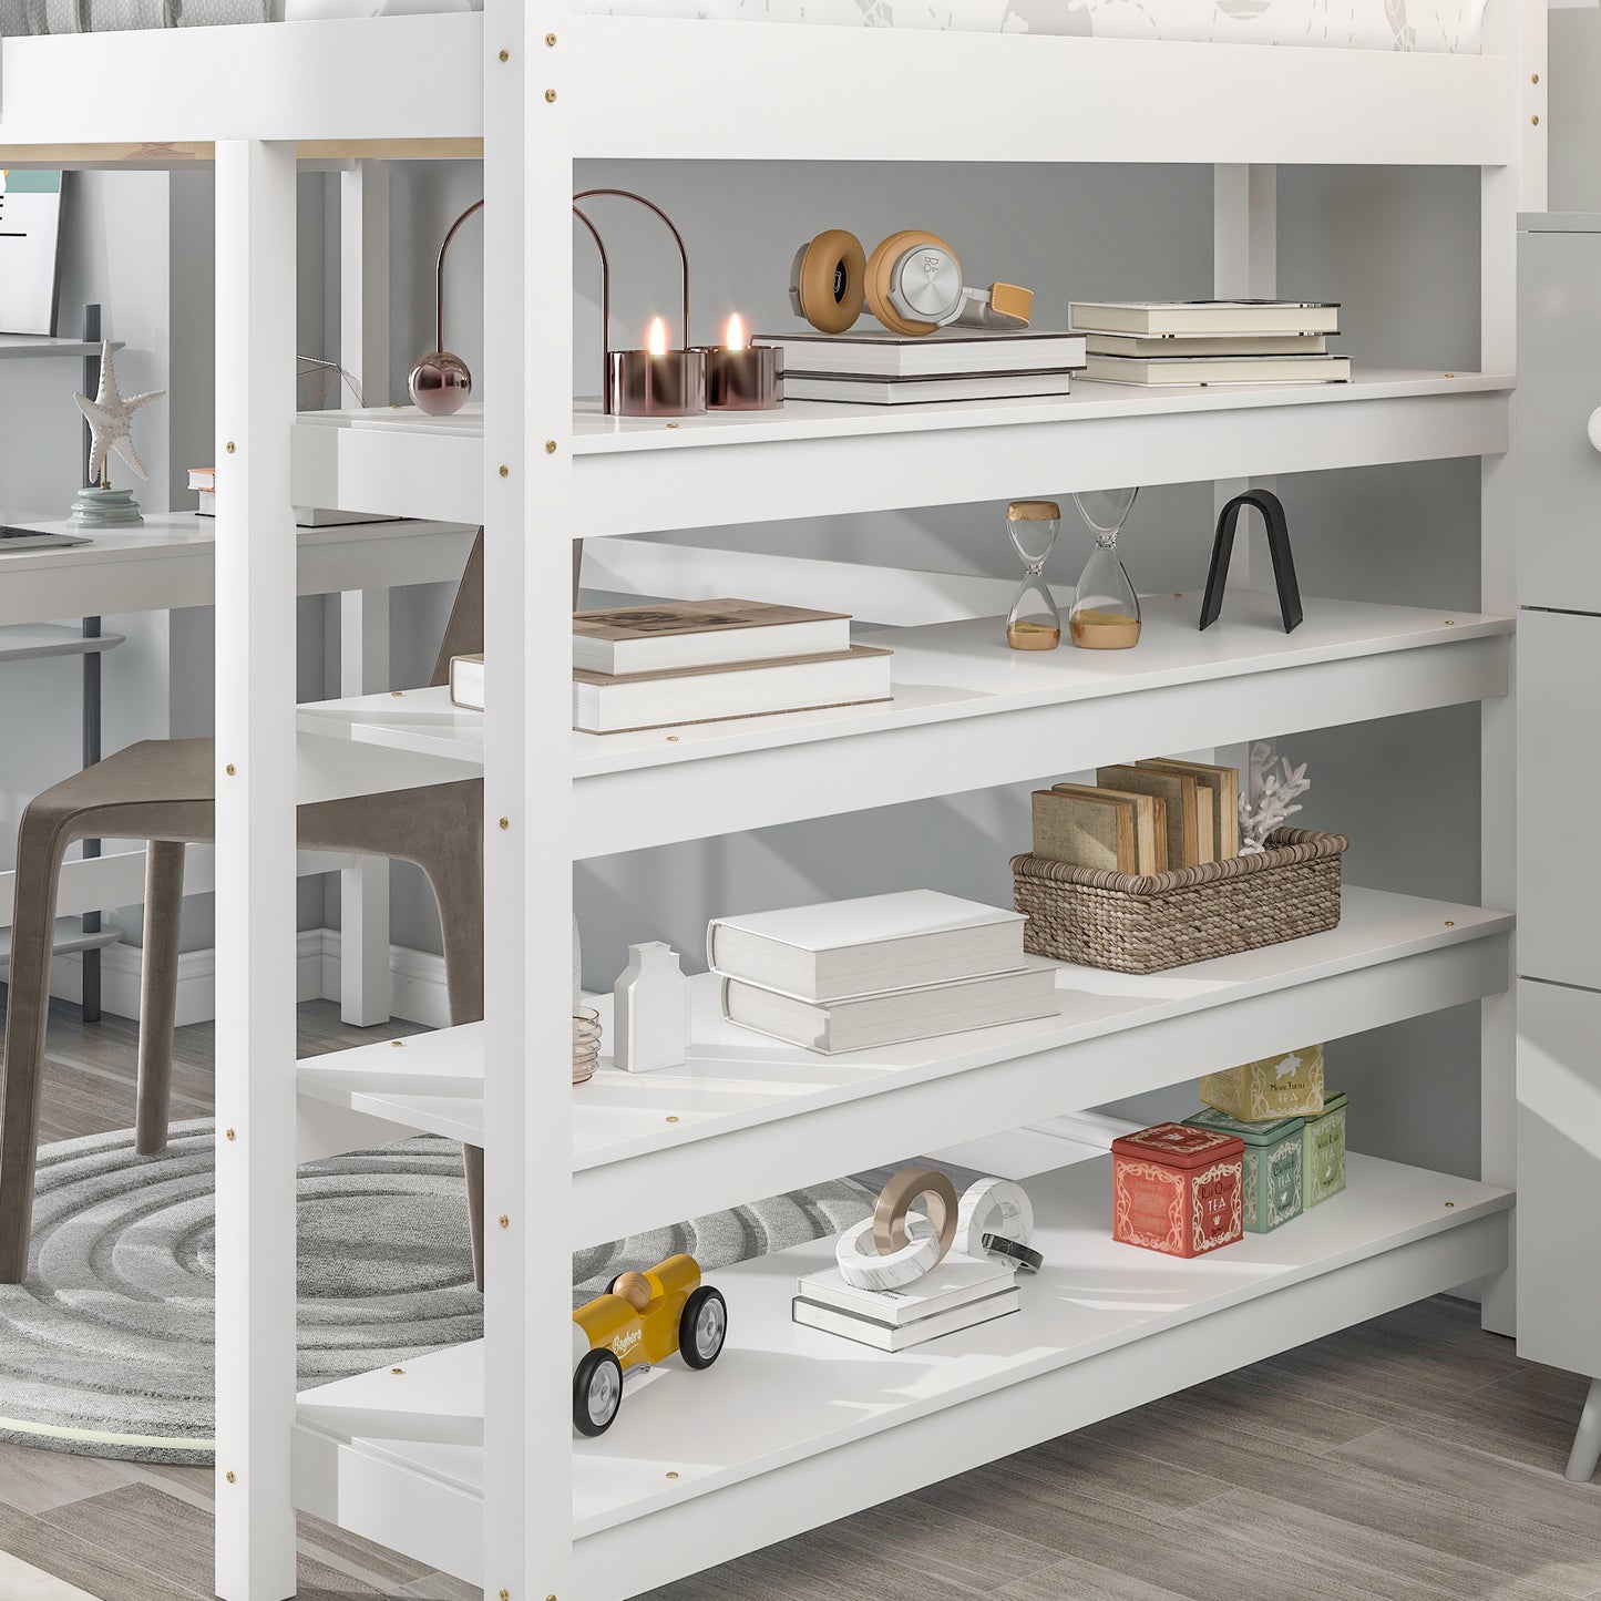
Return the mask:
<svg viewBox="0 0 1601 1601">
<path fill-rule="evenodd" d="M 850 618 L 762 600 L 664 600 L 573 615 L 573 727 L 631 733 L 893 698 L 892 652 Z M 484 656 L 450 663 L 450 698 L 484 709 Z"/>
</svg>

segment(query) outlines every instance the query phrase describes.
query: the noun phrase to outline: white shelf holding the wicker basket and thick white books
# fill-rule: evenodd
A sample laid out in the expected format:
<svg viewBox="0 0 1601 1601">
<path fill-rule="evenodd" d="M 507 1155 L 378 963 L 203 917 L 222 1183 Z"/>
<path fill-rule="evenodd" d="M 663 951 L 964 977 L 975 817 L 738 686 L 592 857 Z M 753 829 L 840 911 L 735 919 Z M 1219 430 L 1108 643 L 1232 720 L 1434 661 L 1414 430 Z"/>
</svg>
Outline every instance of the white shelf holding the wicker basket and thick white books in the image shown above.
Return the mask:
<svg viewBox="0 0 1601 1601">
<path fill-rule="evenodd" d="M 1145 977 L 1061 964 L 1057 1017 L 839 1057 L 725 1023 L 717 981 L 696 977 L 685 1066 L 605 1057 L 573 1090 L 573 1247 L 1499 994 L 1511 927 L 1346 889 L 1326 933 Z M 493 1148 L 482 1095 L 479 1023 L 312 1057 L 299 1159 L 407 1134 Z"/>
</svg>

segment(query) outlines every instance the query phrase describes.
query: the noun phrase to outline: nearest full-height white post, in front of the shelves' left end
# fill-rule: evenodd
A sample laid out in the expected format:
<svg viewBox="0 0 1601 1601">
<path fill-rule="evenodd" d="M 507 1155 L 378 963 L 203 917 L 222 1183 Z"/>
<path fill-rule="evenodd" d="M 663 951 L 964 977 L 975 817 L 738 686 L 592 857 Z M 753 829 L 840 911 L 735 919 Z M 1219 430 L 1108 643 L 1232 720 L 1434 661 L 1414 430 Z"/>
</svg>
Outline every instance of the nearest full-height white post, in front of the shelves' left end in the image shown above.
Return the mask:
<svg viewBox="0 0 1601 1601">
<path fill-rule="evenodd" d="M 484 14 L 485 1566 L 572 1590 L 570 6 Z"/>
</svg>

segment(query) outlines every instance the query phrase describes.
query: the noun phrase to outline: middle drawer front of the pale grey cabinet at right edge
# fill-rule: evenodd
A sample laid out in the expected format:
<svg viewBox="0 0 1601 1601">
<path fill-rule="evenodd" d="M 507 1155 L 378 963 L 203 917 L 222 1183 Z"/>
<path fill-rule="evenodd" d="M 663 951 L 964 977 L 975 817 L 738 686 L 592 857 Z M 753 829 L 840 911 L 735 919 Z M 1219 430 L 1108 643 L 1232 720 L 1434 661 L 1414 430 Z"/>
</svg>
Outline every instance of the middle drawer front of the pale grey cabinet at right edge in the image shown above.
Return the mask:
<svg viewBox="0 0 1601 1601">
<path fill-rule="evenodd" d="M 1598 685 L 1601 616 L 1519 613 L 1518 970 L 1590 989 L 1601 989 L 1601 857 L 1582 809 L 1601 791 Z"/>
</svg>

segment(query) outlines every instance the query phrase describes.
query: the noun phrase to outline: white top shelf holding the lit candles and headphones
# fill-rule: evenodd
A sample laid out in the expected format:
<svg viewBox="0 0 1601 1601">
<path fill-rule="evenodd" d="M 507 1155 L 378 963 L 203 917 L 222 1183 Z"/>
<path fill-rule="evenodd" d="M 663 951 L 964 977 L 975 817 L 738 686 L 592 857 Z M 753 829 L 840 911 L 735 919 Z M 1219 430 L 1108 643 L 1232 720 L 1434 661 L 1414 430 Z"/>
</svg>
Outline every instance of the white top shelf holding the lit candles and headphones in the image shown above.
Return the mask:
<svg viewBox="0 0 1601 1601">
<path fill-rule="evenodd" d="M 581 402 L 572 448 L 584 516 L 573 535 L 1007 500 L 1020 485 L 1058 493 L 1495 455 L 1510 389 L 1494 373 L 1382 370 L 1348 384 L 1166 392 L 1082 381 L 1044 400 L 792 400 L 679 423 L 607 418 Z M 477 524 L 484 479 L 477 405 L 451 418 L 383 407 L 295 419 L 298 506 Z"/>
</svg>

